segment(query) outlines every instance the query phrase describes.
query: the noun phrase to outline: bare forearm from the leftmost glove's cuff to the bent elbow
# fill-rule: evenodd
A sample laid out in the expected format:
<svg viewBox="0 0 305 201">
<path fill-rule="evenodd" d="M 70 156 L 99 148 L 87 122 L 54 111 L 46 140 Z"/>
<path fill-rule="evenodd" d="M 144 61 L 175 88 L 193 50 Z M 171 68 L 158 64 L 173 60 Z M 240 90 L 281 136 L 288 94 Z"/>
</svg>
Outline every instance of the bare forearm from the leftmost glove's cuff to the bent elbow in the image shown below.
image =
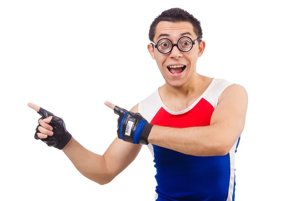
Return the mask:
<svg viewBox="0 0 305 201">
<path fill-rule="evenodd" d="M 99 184 L 106 184 L 112 180 L 104 157 L 87 150 L 73 137 L 63 151 L 86 178 Z"/>
</svg>

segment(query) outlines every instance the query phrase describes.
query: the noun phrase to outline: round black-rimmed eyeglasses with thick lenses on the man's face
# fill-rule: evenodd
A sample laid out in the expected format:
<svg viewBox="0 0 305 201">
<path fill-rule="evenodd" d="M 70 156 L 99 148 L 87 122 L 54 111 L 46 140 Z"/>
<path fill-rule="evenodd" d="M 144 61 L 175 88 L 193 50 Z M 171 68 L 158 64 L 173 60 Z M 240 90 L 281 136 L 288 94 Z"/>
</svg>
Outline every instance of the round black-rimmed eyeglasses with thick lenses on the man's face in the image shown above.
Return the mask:
<svg viewBox="0 0 305 201">
<path fill-rule="evenodd" d="M 152 41 L 151 44 L 153 44 L 159 52 L 167 54 L 171 52 L 175 46 L 177 46 L 181 52 L 189 52 L 198 41 L 201 41 L 199 37 L 193 42 L 190 37 L 182 36 L 178 39 L 177 44 L 173 44 L 170 39 L 167 38 L 160 39 L 157 45 Z"/>
</svg>

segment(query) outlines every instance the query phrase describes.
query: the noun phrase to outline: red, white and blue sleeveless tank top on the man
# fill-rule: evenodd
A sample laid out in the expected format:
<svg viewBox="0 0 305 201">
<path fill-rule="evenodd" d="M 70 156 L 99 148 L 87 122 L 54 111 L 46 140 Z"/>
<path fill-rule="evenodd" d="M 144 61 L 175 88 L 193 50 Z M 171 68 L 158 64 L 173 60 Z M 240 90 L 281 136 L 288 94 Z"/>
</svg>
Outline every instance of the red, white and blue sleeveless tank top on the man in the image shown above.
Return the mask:
<svg viewBox="0 0 305 201">
<path fill-rule="evenodd" d="M 233 83 L 213 78 L 205 92 L 188 108 L 171 111 L 162 102 L 159 89 L 139 102 L 139 113 L 158 126 L 186 128 L 210 125 L 222 92 Z M 148 144 L 156 168 L 155 200 L 233 201 L 234 154 L 240 138 L 228 154 L 194 156 Z"/>
</svg>

